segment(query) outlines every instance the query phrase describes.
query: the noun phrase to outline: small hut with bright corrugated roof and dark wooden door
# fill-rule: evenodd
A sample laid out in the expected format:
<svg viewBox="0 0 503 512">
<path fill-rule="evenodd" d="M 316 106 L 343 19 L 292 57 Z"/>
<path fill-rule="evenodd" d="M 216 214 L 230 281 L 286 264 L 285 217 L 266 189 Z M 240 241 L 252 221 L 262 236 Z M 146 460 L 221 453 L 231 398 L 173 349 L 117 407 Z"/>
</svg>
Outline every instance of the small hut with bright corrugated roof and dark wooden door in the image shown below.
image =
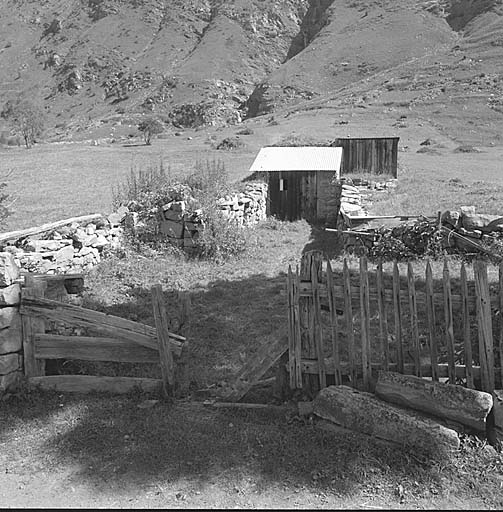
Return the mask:
<svg viewBox="0 0 503 512">
<path fill-rule="evenodd" d="M 342 149 L 337 147 L 265 147 L 250 172 L 265 175 L 267 214 L 281 220 L 327 223 L 337 217 Z"/>
</svg>

